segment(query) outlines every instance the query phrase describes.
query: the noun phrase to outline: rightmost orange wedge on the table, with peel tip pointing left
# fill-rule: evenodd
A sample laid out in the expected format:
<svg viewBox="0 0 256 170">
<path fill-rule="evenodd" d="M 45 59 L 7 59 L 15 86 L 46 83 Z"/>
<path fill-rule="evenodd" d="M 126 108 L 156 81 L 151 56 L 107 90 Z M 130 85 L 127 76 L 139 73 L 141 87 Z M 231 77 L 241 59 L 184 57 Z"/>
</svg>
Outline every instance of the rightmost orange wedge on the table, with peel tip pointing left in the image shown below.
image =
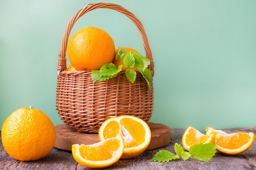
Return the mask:
<svg viewBox="0 0 256 170">
<path fill-rule="evenodd" d="M 224 131 L 208 128 L 208 134 L 215 135 L 217 150 L 227 155 L 238 155 L 245 152 L 254 142 L 254 133 L 225 133 Z M 220 132 L 220 133 L 218 133 Z"/>
</svg>

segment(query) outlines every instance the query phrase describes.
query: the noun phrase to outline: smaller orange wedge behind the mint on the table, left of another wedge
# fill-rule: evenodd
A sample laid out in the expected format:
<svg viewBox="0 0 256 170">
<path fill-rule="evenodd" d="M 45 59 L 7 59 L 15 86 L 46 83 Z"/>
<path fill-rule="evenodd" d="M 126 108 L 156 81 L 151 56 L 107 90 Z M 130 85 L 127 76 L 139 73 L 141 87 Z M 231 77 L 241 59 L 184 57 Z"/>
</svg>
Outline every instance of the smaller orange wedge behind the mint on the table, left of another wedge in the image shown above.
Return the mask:
<svg viewBox="0 0 256 170">
<path fill-rule="evenodd" d="M 189 150 L 190 146 L 198 143 L 212 143 L 214 135 L 204 135 L 195 128 L 189 126 L 182 136 L 182 145 L 186 150 Z"/>
</svg>

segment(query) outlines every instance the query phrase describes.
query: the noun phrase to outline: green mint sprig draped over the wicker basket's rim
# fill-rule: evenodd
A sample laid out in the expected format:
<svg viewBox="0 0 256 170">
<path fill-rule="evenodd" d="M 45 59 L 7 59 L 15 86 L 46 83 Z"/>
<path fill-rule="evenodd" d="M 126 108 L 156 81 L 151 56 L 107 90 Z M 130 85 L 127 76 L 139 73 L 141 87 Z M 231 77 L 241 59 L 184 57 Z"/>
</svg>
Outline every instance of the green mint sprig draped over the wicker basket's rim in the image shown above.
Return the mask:
<svg viewBox="0 0 256 170">
<path fill-rule="evenodd" d="M 92 80 L 93 81 L 105 81 L 109 78 L 115 77 L 121 72 L 122 67 L 124 65 L 124 70 L 126 77 L 131 83 L 134 83 L 136 80 L 137 72 L 140 72 L 142 76 L 146 79 L 149 89 L 151 91 L 151 72 L 148 69 L 148 65 L 150 61 L 148 58 L 143 57 L 142 55 L 133 52 L 126 51 L 124 48 L 118 47 L 116 60 L 120 60 L 120 65 L 117 68 L 113 63 L 104 64 L 100 70 L 92 70 Z M 137 69 L 134 69 L 136 67 Z"/>
</svg>

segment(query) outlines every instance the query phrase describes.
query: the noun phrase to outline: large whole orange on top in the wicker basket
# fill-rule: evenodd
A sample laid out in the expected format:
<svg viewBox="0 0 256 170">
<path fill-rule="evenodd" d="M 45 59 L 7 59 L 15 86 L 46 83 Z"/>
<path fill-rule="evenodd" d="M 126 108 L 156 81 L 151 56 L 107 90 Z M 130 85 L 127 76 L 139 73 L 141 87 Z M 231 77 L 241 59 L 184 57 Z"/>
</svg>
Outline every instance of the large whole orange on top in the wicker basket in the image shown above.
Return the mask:
<svg viewBox="0 0 256 170">
<path fill-rule="evenodd" d="M 103 64 L 113 60 L 115 44 L 105 31 L 85 27 L 71 37 L 67 55 L 76 70 L 99 70 Z"/>
</svg>

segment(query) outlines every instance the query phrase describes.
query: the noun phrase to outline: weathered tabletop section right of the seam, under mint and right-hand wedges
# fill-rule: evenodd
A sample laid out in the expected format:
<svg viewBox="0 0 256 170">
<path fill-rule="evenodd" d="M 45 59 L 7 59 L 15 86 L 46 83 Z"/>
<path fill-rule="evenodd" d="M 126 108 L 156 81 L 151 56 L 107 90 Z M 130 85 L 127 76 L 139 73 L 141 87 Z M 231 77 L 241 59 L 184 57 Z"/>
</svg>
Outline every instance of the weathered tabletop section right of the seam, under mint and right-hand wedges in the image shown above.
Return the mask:
<svg viewBox="0 0 256 170">
<path fill-rule="evenodd" d="M 226 129 L 224 129 L 225 131 Z M 217 152 L 216 156 L 211 159 L 210 162 L 202 162 L 195 159 L 188 159 L 186 161 L 177 160 L 171 162 L 150 162 L 150 159 L 159 150 L 166 149 L 175 153 L 174 144 L 181 144 L 182 135 L 184 129 L 171 129 L 171 143 L 160 149 L 145 151 L 138 157 L 133 159 L 122 159 L 119 160 L 114 165 L 105 168 L 106 170 L 116 169 L 116 170 L 256 170 L 256 144 L 254 142 L 253 146 L 249 148 L 245 153 L 235 156 L 224 155 Z M 237 131 L 244 132 L 254 132 L 256 133 L 256 128 L 240 128 L 240 129 L 227 129 L 228 133 L 233 133 Z M 77 170 L 88 170 L 78 164 Z"/>
</svg>

